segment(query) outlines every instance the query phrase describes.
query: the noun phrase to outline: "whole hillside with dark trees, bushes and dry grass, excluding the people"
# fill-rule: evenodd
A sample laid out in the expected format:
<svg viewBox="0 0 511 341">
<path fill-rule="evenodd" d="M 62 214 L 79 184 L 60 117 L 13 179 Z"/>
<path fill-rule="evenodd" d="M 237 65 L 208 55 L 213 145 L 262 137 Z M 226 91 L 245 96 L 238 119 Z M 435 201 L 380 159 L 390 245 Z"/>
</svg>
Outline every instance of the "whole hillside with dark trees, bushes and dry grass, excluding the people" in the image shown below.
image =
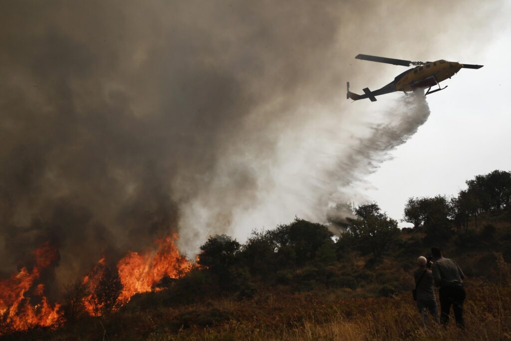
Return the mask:
<svg viewBox="0 0 511 341">
<path fill-rule="evenodd" d="M 295 219 L 254 231 L 244 244 L 212 236 L 185 276 L 120 309 L 89 316 L 77 304 L 86 292 L 70 286 L 58 328 L 3 339 L 511 339 L 511 173 L 467 185 L 452 198 L 410 198 L 404 220 L 413 228 L 400 230 L 370 203 L 329 225 Z M 334 229 L 344 232 L 335 238 Z M 468 277 L 464 331 L 424 328 L 411 299 L 415 260 L 431 246 Z"/>
</svg>

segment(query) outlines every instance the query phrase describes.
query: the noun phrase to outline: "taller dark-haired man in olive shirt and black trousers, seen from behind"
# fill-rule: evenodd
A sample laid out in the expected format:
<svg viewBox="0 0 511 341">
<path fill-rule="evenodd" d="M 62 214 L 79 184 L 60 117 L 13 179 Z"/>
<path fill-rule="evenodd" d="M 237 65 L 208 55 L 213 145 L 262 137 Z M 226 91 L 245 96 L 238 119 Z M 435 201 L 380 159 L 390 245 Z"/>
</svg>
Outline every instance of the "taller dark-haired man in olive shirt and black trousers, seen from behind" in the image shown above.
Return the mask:
<svg viewBox="0 0 511 341">
<path fill-rule="evenodd" d="M 440 297 L 440 322 L 447 325 L 449 322 L 449 312 L 451 305 L 454 310 L 456 325 L 464 328 L 463 322 L 463 301 L 465 300 L 465 289 L 463 288 L 463 271 L 452 259 L 444 258 L 442 250 L 439 247 L 431 248 L 433 256 L 433 279 L 435 286 L 440 287 L 438 295 Z"/>
</svg>

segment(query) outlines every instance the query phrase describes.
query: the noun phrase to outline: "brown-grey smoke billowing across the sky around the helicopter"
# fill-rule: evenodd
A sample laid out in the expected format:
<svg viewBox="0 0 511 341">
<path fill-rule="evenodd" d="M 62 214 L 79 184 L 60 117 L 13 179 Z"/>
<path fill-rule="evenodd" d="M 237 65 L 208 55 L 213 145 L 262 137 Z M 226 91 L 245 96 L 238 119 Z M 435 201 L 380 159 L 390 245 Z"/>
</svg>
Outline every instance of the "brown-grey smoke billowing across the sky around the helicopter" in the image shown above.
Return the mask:
<svg viewBox="0 0 511 341">
<path fill-rule="evenodd" d="M 354 56 L 484 64 L 507 25 L 501 6 L 2 2 L 2 274 L 47 240 L 68 282 L 171 230 L 192 255 L 216 233 L 324 222 L 332 205 L 370 199 L 367 175 L 436 109 L 489 100 L 490 71 L 462 70 L 467 84 L 430 107 L 420 94 L 350 103 L 346 81 L 360 93 L 406 70 Z"/>
</svg>

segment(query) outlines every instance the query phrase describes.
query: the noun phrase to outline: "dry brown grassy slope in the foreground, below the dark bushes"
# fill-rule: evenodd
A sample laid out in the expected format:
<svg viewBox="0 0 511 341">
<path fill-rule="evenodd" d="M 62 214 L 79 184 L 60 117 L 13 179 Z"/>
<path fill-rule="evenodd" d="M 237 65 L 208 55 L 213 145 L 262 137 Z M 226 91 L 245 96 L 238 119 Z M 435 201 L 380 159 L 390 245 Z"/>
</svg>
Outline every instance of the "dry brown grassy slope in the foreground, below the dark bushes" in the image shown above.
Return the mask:
<svg viewBox="0 0 511 341">
<path fill-rule="evenodd" d="M 251 300 L 220 299 L 179 308 L 124 309 L 108 318 L 47 331 L 44 339 L 82 340 L 507 340 L 511 288 L 467 283 L 466 329 L 423 326 L 408 292 L 359 297 L 357 290 L 272 289 Z M 33 331 L 32 336 L 40 336 Z M 15 335 L 13 335 L 15 337 Z M 23 338 L 32 339 L 30 333 Z M 35 337 L 33 339 L 39 339 Z M 42 338 L 40 338 L 42 339 Z"/>
</svg>

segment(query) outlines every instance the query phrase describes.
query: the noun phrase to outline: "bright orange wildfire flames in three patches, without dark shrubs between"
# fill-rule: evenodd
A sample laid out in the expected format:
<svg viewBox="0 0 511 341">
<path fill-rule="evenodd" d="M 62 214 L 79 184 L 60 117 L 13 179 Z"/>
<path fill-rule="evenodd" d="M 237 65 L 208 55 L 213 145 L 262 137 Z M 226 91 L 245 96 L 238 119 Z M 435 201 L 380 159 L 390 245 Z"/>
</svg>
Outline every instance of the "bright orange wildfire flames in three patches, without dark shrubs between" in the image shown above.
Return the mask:
<svg viewBox="0 0 511 341">
<path fill-rule="evenodd" d="M 120 294 L 112 307 L 118 308 L 136 293 L 157 290 L 155 285 L 164 277 L 179 278 L 192 268 L 192 263 L 179 254 L 173 234 L 155 241 L 156 247 L 139 254 L 129 252 L 117 263 L 115 278 L 120 281 Z M 44 284 L 36 283 L 41 271 L 54 264 L 58 259 L 58 250 L 45 243 L 33 253 L 35 264 L 31 271 L 21 268 L 18 274 L 7 280 L 0 280 L 0 334 L 9 330 L 27 330 L 35 326 L 55 326 L 62 321 L 61 305 L 48 303 L 44 296 Z M 97 316 L 101 314 L 102 303 L 98 300 L 97 288 L 107 271 L 105 258 L 83 278 L 87 288 L 83 298 L 86 312 Z"/>
</svg>

